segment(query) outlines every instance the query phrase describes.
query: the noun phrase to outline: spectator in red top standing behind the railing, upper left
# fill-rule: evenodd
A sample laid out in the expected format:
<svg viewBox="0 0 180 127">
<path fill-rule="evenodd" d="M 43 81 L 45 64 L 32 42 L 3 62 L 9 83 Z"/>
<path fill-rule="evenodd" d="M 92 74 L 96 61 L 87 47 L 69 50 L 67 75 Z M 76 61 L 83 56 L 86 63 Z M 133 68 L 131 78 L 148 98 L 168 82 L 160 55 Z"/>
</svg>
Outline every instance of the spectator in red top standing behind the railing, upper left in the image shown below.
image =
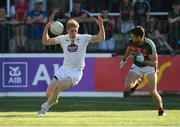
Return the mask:
<svg viewBox="0 0 180 127">
<path fill-rule="evenodd" d="M 15 2 L 15 20 L 18 21 L 18 25 L 15 27 L 15 38 L 17 41 L 17 50 L 25 50 L 25 25 L 29 4 L 26 0 L 16 0 Z"/>
</svg>

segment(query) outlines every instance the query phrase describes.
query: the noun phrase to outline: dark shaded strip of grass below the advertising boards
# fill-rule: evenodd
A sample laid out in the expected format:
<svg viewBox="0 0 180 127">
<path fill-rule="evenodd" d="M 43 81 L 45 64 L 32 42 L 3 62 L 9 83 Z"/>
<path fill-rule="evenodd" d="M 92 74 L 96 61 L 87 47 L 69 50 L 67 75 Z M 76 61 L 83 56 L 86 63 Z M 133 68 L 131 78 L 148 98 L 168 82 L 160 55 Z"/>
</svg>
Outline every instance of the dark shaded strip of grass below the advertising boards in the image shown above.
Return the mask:
<svg viewBox="0 0 180 127">
<path fill-rule="evenodd" d="M 164 107 L 180 110 L 180 95 L 163 96 Z M 36 112 L 46 98 L 0 98 L 0 112 Z M 132 111 L 156 109 L 150 96 L 130 96 L 126 98 L 79 98 L 63 97 L 54 105 L 52 112 L 68 111 Z"/>
</svg>

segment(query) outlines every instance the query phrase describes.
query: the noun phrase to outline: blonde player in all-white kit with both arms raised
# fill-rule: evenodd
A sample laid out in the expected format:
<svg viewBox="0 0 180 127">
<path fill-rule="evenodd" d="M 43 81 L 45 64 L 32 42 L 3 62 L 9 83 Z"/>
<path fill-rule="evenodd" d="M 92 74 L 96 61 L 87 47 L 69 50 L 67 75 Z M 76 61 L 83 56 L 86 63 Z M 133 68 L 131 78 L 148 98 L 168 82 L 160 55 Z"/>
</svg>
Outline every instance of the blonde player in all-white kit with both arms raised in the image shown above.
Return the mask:
<svg viewBox="0 0 180 127">
<path fill-rule="evenodd" d="M 63 65 L 57 70 L 54 78 L 52 79 L 46 96 L 47 101 L 41 106 L 38 115 L 46 114 L 48 109 L 56 103 L 59 94 L 71 86 L 78 84 L 82 78 L 83 69 L 85 66 L 86 48 L 89 42 L 101 42 L 105 40 L 105 31 L 103 19 L 98 16 L 96 20 L 99 26 L 99 33 L 97 35 L 78 34 L 79 23 L 71 19 L 67 22 L 67 34 L 59 35 L 55 38 L 50 38 L 48 29 L 52 22 L 48 22 L 44 28 L 42 43 L 44 45 L 60 44 L 63 53 Z"/>
</svg>

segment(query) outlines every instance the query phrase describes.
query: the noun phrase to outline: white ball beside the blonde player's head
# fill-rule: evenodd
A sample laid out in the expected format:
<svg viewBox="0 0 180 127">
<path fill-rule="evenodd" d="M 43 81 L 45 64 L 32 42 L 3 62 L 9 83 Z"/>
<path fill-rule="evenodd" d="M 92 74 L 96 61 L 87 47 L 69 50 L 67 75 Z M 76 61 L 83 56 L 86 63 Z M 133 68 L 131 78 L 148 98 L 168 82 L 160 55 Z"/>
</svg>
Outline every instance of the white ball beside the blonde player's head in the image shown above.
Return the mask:
<svg viewBox="0 0 180 127">
<path fill-rule="evenodd" d="M 59 21 L 55 21 L 51 24 L 50 31 L 53 35 L 60 35 L 64 31 L 64 25 Z"/>
</svg>

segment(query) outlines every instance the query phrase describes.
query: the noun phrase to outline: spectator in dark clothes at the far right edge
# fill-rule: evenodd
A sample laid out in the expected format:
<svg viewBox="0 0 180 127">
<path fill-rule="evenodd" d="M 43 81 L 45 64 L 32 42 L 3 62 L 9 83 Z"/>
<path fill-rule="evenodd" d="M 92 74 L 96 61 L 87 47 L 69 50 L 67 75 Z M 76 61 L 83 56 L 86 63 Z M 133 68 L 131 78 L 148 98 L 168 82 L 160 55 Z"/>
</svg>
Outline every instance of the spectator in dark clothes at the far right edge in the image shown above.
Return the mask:
<svg viewBox="0 0 180 127">
<path fill-rule="evenodd" d="M 173 48 L 180 48 L 180 1 L 174 1 L 168 14 L 170 23 L 169 41 Z"/>
</svg>

